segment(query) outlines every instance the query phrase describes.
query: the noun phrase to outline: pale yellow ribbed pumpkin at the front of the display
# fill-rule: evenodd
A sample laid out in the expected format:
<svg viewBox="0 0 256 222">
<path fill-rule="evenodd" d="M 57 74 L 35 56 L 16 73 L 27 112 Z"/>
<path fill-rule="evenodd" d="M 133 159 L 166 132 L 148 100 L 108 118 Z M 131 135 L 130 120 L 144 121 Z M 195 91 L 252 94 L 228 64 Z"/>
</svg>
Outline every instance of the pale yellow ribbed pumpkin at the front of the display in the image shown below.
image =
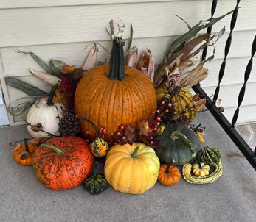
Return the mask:
<svg viewBox="0 0 256 222">
<path fill-rule="evenodd" d="M 160 162 L 144 143 L 112 146 L 106 156 L 105 179 L 122 193 L 144 193 L 155 185 Z"/>
</svg>

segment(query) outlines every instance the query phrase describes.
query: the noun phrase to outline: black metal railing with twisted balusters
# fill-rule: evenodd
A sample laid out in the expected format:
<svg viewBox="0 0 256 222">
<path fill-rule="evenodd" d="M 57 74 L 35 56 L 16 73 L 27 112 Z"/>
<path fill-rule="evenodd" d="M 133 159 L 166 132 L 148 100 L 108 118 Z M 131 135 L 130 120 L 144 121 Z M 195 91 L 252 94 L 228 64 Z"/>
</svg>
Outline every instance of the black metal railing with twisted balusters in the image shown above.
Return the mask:
<svg viewBox="0 0 256 222">
<path fill-rule="evenodd" d="M 237 4 L 235 6 L 235 10 L 232 12 L 232 18 L 230 21 L 230 32 L 229 37 L 226 40 L 226 46 L 225 46 L 225 56 L 224 60 L 221 64 L 221 68 L 218 74 L 218 85 L 215 89 L 215 93 L 213 95 L 213 99 L 210 99 L 210 97 L 207 95 L 207 93 L 204 92 L 204 90 L 201 88 L 200 84 L 193 86 L 193 90 L 195 93 L 199 93 L 202 98 L 206 99 L 206 107 L 210 112 L 212 113 L 213 117 L 218 121 L 218 123 L 221 125 L 221 127 L 224 129 L 227 135 L 231 138 L 231 140 L 235 143 L 235 145 L 238 147 L 238 149 L 241 151 L 241 153 L 246 157 L 246 160 L 249 161 L 249 163 L 252 165 L 253 168 L 255 168 L 256 171 L 256 147 L 255 151 L 252 151 L 252 148 L 249 147 L 249 145 L 243 140 L 243 137 L 239 135 L 239 133 L 235 129 L 235 123 L 238 119 L 239 115 L 239 108 L 243 102 L 243 97 L 246 92 L 246 82 L 249 79 L 249 76 L 252 71 L 252 60 L 255 55 L 256 51 L 256 36 L 252 43 L 252 52 L 251 52 L 251 58 L 249 60 L 248 65 L 246 66 L 246 71 L 244 74 L 244 82 L 243 86 L 241 87 L 240 93 L 238 95 L 238 107 L 235 110 L 235 113 L 232 118 L 232 123 L 230 123 L 226 117 L 222 114 L 222 112 L 218 109 L 218 107 L 215 105 L 215 101 L 218 99 L 218 93 L 221 87 L 221 81 L 224 76 L 225 67 L 226 67 L 226 57 L 229 54 L 229 49 L 232 43 L 232 32 L 235 28 L 236 20 L 238 17 L 238 7 L 241 0 L 237 0 Z M 215 13 L 215 9 L 217 7 L 218 0 L 212 0 L 212 8 L 211 8 L 211 18 L 213 17 Z M 212 31 L 211 28 L 207 29 L 207 33 L 210 33 Z M 207 49 L 204 49 L 202 54 L 202 59 L 204 60 L 207 54 Z"/>
</svg>

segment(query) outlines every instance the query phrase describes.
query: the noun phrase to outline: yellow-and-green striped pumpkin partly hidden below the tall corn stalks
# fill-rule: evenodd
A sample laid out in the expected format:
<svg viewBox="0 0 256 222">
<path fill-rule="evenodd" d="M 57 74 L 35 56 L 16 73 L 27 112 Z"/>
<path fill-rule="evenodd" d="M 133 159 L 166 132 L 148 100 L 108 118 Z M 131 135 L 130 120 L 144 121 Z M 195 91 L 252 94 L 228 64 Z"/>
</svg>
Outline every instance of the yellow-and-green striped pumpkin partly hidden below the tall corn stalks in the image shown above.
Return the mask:
<svg viewBox="0 0 256 222">
<path fill-rule="evenodd" d="M 175 114 L 184 115 L 190 122 L 196 116 L 194 107 L 193 96 L 185 87 L 174 87 L 173 90 L 168 92 L 167 87 L 156 88 L 156 98 L 162 97 L 171 98 L 174 106 L 176 107 Z"/>
</svg>

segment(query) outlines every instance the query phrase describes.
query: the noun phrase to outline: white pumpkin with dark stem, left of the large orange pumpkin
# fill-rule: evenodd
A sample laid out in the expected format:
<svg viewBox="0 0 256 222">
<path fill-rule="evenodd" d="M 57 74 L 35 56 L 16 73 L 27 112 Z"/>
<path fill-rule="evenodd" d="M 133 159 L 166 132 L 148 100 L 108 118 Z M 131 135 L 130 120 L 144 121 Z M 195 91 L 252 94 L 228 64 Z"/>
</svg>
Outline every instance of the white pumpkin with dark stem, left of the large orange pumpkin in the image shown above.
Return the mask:
<svg viewBox="0 0 256 222">
<path fill-rule="evenodd" d="M 41 123 L 43 131 L 35 131 L 33 127 L 28 125 L 27 130 L 32 137 L 52 137 L 52 135 L 60 135 L 59 123 L 63 117 L 64 105 L 63 104 L 47 104 L 48 97 L 44 97 L 35 104 L 32 104 L 29 112 L 27 113 L 27 123 L 32 126 L 37 126 Z M 51 134 L 51 135 L 49 135 Z"/>
</svg>

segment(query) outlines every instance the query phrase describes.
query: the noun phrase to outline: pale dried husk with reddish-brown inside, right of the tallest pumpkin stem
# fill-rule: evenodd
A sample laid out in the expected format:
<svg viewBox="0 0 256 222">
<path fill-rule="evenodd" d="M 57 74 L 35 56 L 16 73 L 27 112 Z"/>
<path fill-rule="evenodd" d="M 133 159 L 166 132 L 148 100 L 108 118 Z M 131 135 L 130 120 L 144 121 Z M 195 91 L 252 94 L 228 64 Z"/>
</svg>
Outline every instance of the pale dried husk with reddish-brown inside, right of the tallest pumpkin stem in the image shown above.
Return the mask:
<svg viewBox="0 0 256 222">
<path fill-rule="evenodd" d="M 148 51 L 142 52 L 142 56 L 138 64 L 138 70 L 142 71 L 142 73 L 148 76 L 148 78 L 151 79 L 151 82 L 153 82 L 154 62 L 153 55 L 151 54 L 151 51 L 149 49 Z"/>
</svg>

